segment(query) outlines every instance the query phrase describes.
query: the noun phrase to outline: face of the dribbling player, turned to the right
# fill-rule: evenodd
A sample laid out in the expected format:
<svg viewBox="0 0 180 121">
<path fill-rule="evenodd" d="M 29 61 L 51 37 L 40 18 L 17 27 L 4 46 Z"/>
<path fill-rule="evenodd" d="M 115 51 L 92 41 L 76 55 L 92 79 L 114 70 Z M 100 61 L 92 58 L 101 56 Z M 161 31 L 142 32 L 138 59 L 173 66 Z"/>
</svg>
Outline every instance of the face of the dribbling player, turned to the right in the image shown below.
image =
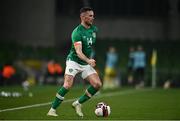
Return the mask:
<svg viewBox="0 0 180 121">
<path fill-rule="evenodd" d="M 93 11 L 85 12 L 83 20 L 88 26 L 92 25 L 94 20 L 94 12 Z"/>
</svg>

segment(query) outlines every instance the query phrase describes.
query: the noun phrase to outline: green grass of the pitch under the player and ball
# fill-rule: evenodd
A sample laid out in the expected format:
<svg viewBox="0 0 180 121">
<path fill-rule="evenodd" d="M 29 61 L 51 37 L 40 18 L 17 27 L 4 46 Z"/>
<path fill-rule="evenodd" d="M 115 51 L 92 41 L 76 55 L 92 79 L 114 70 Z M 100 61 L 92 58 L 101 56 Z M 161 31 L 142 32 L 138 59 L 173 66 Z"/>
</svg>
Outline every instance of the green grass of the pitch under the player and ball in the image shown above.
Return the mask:
<svg viewBox="0 0 180 121">
<path fill-rule="evenodd" d="M 18 87 L 0 87 L 4 91 L 19 91 L 22 97 L 0 97 L 0 110 L 39 103 L 51 102 L 57 91 L 57 86 L 36 86 L 29 97 Z M 50 105 L 31 107 L 21 110 L 0 112 L 0 120 L 81 120 L 71 107 L 71 101 L 84 92 L 84 87 L 74 87 L 66 95 L 64 103 L 58 108 L 58 117 L 47 117 Z M 107 95 L 109 94 L 109 95 Z M 94 114 L 95 105 L 104 101 L 111 107 L 111 115 L 99 118 Z M 120 88 L 101 91 L 101 93 L 83 105 L 85 117 L 83 120 L 173 120 L 180 119 L 180 89 L 141 89 Z"/>
</svg>

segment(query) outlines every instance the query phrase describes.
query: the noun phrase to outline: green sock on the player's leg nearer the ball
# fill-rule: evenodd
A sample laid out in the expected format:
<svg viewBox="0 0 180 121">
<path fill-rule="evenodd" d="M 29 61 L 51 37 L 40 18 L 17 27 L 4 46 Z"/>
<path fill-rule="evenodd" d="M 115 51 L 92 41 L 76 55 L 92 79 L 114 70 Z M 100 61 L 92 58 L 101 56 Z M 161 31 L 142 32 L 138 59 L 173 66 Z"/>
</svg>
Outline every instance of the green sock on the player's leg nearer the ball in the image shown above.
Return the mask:
<svg viewBox="0 0 180 121">
<path fill-rule="evenodd" d="M 98 91 L 97 89 L 95 89 L 93 86 L 89 86 L 87 88 L 87 91 L 91 94 L 91 96 L 93 96 L 94 94 L 96 94 L 96 92 Z M 82 95 L 80 98 L 79 98 L 79 103 L 82 104 L 84 102 L 86 102 L 87 100 L 89 100 L 91 97 L 89 97 L 86 93 L 84 95 Z"/>
</svg>

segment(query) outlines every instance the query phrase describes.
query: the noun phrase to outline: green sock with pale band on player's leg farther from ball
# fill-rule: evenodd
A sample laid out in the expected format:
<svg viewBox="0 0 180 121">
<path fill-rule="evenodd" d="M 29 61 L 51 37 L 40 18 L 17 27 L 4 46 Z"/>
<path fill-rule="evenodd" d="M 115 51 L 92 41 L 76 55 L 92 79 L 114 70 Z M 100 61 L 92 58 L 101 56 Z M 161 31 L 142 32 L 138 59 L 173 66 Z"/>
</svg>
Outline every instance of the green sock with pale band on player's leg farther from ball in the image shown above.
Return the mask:
<svg viewBox="0 0 180 121">
<path fill-rule="evenodd" d="M 62 102 L 63 99 L 64 99 L 64 95 L 65 95 L 68 91 L 69 91 L 69 90 L 66 89 L 66 88 L 64 88 L 64 87 L 61 87 L 61 88 L 58 90 L 58 92 L 57 92 L 57 94 L 56 94 L 56 98 L 55 98 L 54 101 L 52 102 L 52 108 L 53 108 L 53 109 L 56 109 L 56 108 L 61 104 L 61 102 Z M 59 96 L 57 97 L 57 95 L 59 95 Z M 60 98 L 62 98 L 62 99 L 60 99 Z"/>
</svg>

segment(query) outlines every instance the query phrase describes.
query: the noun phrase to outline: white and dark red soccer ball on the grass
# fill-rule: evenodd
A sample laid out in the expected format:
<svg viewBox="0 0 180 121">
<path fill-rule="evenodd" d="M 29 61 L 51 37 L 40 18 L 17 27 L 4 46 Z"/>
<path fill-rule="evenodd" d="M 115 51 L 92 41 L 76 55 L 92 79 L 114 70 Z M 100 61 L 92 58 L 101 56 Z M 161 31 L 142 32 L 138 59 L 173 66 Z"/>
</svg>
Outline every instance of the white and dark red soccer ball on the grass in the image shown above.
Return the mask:
<svg viewBox="0 0 180 121">
<path fill-rule="evenodd" d="M 96 105 L 95 114 L 98 117 L 108 117 L 111 113 L 111 108 L 104 102 L 100 102 Z"/>
</svg>

